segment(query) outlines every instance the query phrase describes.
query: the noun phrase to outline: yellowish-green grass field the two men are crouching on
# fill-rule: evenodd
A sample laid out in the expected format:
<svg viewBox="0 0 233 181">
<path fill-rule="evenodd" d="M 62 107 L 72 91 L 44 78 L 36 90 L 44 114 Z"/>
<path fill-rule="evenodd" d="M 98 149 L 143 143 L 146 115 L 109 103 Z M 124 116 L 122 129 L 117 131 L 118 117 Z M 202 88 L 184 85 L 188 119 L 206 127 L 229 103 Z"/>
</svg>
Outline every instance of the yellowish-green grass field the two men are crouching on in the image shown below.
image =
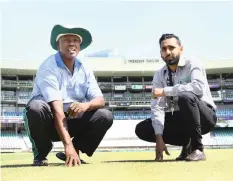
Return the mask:
<svg viewBox="0 0 233 181">
<path fill-rule="evenodd" d="M 68 168 L 54 153 L 48 167 L 32 167 L 31 153 L 1 154 L 2 181 L 233 181 L 233 149 L 205 150 L 207 161 L 175 162 L 170 151 L 164 162 L 154 152 L 97 152 L 81 155 L 89 164 Z"/>
</svg>

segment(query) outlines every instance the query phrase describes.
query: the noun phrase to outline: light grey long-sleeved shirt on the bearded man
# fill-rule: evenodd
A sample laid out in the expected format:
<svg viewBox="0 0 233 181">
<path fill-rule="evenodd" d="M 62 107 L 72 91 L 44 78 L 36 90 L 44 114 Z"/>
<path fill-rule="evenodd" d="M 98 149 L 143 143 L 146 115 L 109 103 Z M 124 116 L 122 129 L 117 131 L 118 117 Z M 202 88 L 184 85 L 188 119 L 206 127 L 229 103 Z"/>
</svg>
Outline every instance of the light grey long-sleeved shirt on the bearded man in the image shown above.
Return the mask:
<svg viewBox="0 0 233 181">
<path fill-rule="evenodd" d="M 155 134 L 163 134 L 165 112 L 171 112 L 170 97 L 173 96 L 174 111 L 178 111 L 178 96 L 183 91 L 193 92 L 216 109 L 205 69 L 199 59 L 181 57 L 172 78 L 174 86 L 167 86 L 169 76 L 166 65 L 155 72 L 153 77 L 152 92 L 155 88 L 164 88 L 165 93 L 164 97 L 157 97 L 151 101 L 151 119 Z"/>
</svg>

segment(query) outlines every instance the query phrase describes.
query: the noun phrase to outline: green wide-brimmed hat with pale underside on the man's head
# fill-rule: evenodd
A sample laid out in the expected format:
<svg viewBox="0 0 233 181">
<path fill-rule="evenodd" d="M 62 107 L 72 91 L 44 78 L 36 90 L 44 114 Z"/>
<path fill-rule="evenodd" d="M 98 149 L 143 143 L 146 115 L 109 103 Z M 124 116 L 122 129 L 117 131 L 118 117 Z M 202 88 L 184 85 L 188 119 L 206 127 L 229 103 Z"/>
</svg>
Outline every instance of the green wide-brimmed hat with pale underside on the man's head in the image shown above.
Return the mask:
<svg viewBox="0 0 233 181">
<path fill-rule="evenodd" d="M 61 25 L 55 25 L 51 31 L 50 44 L 54 50 L 57 50 L 57 40 L 63 35 L 76 35 L 81 39 L 80 51 L 87 48 L 92 42 L 91 33 L 84 28 L 68 28 Z"/>
</svg>

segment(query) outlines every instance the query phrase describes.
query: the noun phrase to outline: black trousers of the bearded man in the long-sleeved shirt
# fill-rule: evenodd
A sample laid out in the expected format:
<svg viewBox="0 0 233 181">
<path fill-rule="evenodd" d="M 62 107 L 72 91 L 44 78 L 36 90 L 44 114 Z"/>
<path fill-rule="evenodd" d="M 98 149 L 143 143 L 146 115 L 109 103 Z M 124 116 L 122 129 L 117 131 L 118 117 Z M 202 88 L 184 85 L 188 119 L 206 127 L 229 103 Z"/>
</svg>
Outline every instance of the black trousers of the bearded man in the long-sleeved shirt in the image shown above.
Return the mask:
<svg viewBox="0 0 233 181">
<path fill-rule="evenodd" d="M 209 133 L 216 125 L 217 116 L 211 105 L 201 101 L 191 92 L 179 95 L 180 110 L 165 113 L 163 139 L 166 144 L 185 146 L 191 139 L 193 150 L 203 150 L 202 135 Z M 156 142 L 151 119 L 140 122 L 136 135 L 148 142 Z"/>
</svg>

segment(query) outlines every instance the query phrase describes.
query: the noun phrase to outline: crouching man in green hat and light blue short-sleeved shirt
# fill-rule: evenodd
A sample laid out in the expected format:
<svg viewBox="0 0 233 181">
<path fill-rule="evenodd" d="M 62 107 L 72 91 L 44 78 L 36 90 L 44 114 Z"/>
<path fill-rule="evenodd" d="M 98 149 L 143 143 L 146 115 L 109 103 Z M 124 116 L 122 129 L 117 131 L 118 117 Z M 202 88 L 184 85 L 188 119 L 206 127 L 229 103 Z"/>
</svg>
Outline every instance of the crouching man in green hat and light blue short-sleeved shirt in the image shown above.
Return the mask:
<svg viewBox="0 0 233 181">
<path fill-rule="evenodd" d="M 24 110 L 34 166 L 48 165 L 54 141 L 62 141 L 65 150 L 57 157 L 67 166 L 80 165 L 79 151 L 92 156 L 113 123 L 112 113 L 102 109 L 104 98 L 93 72 L 76 57 L 91 42 L 86 29 L 52 29 L 50 44 L 57 53 L 40 65 Z"/>
</svg>

